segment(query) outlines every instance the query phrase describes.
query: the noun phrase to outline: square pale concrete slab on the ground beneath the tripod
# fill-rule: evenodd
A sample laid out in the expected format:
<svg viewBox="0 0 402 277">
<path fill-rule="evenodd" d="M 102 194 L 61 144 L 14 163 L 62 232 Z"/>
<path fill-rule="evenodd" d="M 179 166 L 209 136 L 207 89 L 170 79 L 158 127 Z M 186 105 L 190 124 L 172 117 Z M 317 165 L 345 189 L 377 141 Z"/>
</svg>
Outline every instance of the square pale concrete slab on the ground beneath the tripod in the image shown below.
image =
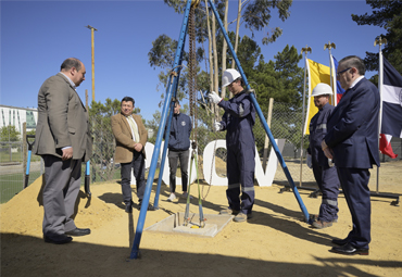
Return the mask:
<svg viewBox="0 0 402 277">
<path fill-rule="evenodd" d="M 233 215 L 204 214 L 204 218 L 206 219 L 205 226 L 201 228 L 199 214 L 190 214 L 189 217 L 190 221 L 188 225 L 185 226 L 185 213 L 176 213 L 169 215 L 162 222 L 146 228 L 145 230 L 151 232 L 213 238 L 234 218 Z"/>
</svg>

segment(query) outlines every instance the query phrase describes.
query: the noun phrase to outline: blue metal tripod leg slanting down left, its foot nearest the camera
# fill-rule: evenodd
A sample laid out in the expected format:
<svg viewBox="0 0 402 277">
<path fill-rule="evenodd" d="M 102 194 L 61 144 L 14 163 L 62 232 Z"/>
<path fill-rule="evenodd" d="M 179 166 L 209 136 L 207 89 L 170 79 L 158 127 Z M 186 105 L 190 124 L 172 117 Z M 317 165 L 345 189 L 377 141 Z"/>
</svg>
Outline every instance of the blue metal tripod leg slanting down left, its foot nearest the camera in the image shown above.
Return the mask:
<svg viewBox="0 0 402 277">
<path fill-rule="evenodd" d="M 181 30 L 180 30 L 180 36 L 176 49 L 176 56 L 175 56 L 175 62 L 174 62 L 174 71 L 177 73 L 180 68 L 177 67 L 179 64 L 179 60 L 181 58 L 181 51 L 185 45 L 185 37 L 186 37 L 186 32 L 187 32 L 187 23 L 188 23 L 188 17 L 190 13 L 190 8 L 191 8 L 191 0 L 187 1 L 186 5 L 186 11 L 185 11 L 185 16 L 181 24 Z M 153 150 L 152 154 L 152 160 L 151 160 L 151 166 L 147 179 L 147 185 L 146 185 L 146 191 L 143 193 L 143 199 L 142 199 L 142 204 L 141 204 L 141 210 L 138 216 L 138 223 L 137 223 L 137 229 L 136 229 L 136 235 L 134 237 L 134 242 L 133 242 L 133 248 L 131 248 L 131 253 L 130 253 L 130 259 L 137 259 L 139 256 L 139 243 L 141 241 L 141 236 L 142 236 L 142 230 L 143 230 L 143 223 L 146 221 L 146 215 L 147 215 L 147 209 L 149 205 L 149 198 L 151 196 L 151 190 L 152 190 L 152 182 L 153 178 L 155 176 L 155 169 L 158 165 L 158 158 L 159 153 L 161 151 L 161 144 L 162 144 L 162 138 L 163 138 L 163 133 L 165 129 L 166 125 L 166 119 L 167 119 L 167 109 L 171 103 L 172 99 L 172 75 L 168 78 L 168 86 L 166 89 L 166 98 L 165 102 L 163 104 L 163 110 L 162 110 L 162 116 L 161 116 L 161 124 L 158 130 L 158 136 L 156 136 L 156 141 L 155 141 L 155 148 Z"/>
</svg>

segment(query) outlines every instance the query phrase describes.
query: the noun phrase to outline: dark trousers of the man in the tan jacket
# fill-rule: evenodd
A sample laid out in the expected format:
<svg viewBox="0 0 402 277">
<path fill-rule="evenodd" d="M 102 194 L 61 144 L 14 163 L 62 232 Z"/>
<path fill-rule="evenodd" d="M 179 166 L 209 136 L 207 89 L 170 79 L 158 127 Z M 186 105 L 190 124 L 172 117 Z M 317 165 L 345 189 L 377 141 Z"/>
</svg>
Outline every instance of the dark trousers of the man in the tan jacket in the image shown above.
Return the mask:
<svg viewBox="0 0 402 277">
<path fill-rule="evenodd" d="M 131 203 L 131 169 L 137 182 L 137 197 L 142 201 L 146 191 L 146 160 L 142 152 L 134 151 L 130 163 L 121 163 L 123 201 L 127 205 Z"/>
</svg>

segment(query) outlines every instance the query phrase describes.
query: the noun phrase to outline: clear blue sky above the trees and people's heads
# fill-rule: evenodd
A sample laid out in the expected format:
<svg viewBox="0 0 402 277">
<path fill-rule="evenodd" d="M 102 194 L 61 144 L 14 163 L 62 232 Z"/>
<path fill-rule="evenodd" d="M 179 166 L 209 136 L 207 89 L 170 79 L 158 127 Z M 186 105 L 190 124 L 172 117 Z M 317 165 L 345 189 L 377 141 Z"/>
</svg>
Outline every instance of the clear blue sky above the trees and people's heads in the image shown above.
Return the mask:
<svg viewBox="0 0 402 277">
<path fill-rule="evenodd" d="M 95 32 L 95 100 L 135 99 L 143 118 L 152 119 L 159 108 L 161 87 L 158 74 L 161 68 L 149 64 L 148 52 L 160 35 L 178 40 L 183 14 L 175 13 L 163 0 L 126 1 L 3 1 L 0 2 L 0 104 L 18 108 L 37 108 L 41 84 L 60 71 L 70 56 L 86 65 L 86 80 L 77 88 L 83 102 L 85 90 L 92 99 L 91 25 Z M 299 53 L 305 46 L 312 48 L 307 58 L 329 65 L 328 50 L 324 45 L 334 42 L 332 55 L 339 61 L 365 52 L 378 52 L 374 47 L 384 28 L 359 26 L 351 14 L 370 14 L 366 1 L 302 1 L 293 0 L 290 17 L 281 22 L 277 11 L 272 12 L 268 28 L 256 33 L 265 62 L 284 48 L 294 46 Z M 229 1 L 229 20 L 236 18 L 237 1 Z M 196 14 L 197 16 L 197 14 Z M 282 28 L 276 42 L 263 46 L 261 39 L 269 28 Z M 231 24 L 229 30 L 235 30 Z M 240 36 L 251 36 L 242 25 Z M 186 43 L 187 48 L 188 41 Z M 206 47 L 206 46 L 205 46 Z M 304 67 L 304 61 L 299 63 Z M 366 77 L 376 72 L 367 72 Z M 183 104 L 183 103 L 181 103 Z"/>
</svg>

